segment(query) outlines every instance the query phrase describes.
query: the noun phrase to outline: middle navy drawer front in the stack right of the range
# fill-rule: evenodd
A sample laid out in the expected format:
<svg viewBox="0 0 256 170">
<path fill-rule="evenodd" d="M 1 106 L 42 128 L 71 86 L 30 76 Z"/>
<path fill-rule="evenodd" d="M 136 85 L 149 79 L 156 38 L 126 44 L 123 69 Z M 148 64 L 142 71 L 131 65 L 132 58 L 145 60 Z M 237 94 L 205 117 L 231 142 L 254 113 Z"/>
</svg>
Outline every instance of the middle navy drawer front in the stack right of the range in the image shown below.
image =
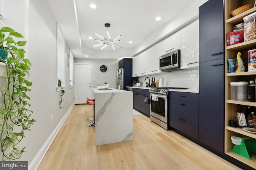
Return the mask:
<svg viewBox="0 0 256 170">
<path fill-rule="evenodd" d="M 198 121 L 199 103 L 176 98 L 170 99 L 170 114 L 179 114 Z"/>
</svg>

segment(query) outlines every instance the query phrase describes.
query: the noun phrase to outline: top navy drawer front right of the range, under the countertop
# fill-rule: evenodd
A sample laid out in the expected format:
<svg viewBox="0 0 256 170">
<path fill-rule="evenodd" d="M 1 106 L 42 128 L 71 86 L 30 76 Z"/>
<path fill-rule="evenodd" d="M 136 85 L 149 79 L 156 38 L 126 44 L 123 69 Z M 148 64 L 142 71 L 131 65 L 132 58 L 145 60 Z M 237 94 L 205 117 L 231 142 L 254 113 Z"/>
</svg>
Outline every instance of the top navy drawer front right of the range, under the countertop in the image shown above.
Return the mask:
<svg viewBox="0 0 256 170">
<path fill-rule="evenodd" d="M 170 98 L 190 100 L 193 102 L 198 102 L 199 94 L 198 93 L 187 93 L 187 92 L 169 92 Z"/>
</svg>

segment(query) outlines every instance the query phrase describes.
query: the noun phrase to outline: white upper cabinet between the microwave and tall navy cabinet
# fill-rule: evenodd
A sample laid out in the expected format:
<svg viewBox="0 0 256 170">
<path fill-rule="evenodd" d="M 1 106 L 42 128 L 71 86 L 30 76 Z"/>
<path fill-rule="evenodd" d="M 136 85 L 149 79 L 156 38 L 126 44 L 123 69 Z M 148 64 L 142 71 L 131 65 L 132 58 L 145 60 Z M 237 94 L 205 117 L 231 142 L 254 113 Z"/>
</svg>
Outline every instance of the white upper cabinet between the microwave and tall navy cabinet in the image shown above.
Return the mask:
<svg viewBox="0 0 256 170">
<path fill-rule="evenodd" d="M 180 68 L 199 66 L 199 21 L 180 30 Z"/>
</svg>

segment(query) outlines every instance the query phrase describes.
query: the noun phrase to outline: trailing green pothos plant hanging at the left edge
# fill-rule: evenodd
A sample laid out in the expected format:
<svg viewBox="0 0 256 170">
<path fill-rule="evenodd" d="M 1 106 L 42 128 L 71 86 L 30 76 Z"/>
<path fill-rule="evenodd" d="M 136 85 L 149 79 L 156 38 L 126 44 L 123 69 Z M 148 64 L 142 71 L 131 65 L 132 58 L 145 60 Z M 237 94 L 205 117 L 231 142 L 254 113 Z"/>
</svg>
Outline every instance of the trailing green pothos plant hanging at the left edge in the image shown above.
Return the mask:
<svg viewBox="0 0 256 170">
<path fill-rule="evenodd" d="M 25 137 L 25 131 L 30 131 L 35 120 L 31 118 L 32 110 L 28 100 L 28 92 L 32 82 L 26 80 L 29 76 L 31 63 L 24 57 L 23 46 L 26 41 L 16 41 L 24 38 L 10 27 L 0 29 L 0 61 L 5 64 L 6 89 L 2 90 L 0 108 L 0 143 L 2 160 L 16 160 L 25 152 L 25 147 L 18 144 Z"/>
</svg>

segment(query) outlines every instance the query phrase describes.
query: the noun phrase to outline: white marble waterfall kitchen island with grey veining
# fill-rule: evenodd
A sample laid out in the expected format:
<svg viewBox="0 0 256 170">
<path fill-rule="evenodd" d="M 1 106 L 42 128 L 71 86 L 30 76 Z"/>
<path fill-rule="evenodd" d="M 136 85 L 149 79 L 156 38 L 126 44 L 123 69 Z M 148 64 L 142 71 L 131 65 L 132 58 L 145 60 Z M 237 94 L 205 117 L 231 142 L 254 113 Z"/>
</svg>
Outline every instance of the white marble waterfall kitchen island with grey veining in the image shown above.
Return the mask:
<svg viewBox="0 0 256 170">
<path fill-rule="evenodd" d="M 133 93 L 118 89 L 93 89 L 95 145 L 133 139 Z"/>
</svg>

